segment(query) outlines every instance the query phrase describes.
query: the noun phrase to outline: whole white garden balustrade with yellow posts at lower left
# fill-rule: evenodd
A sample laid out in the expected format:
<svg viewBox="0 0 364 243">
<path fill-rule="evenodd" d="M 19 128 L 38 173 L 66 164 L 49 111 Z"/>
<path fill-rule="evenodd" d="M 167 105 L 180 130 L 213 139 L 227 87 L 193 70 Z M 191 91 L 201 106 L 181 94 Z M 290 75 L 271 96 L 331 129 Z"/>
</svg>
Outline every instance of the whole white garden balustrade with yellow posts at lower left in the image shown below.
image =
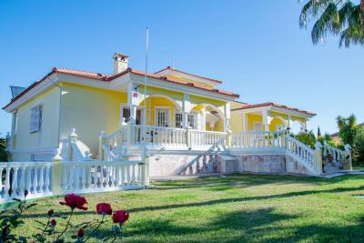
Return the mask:
<svg viewBox="0 0 364 243">
<path fill-rule="evenodd" d="M 139 189 L 148 185 L 141 161 L 63 161 L 0 163 L 0 204 L 13 198 L 47 197 Z"/>
</svg>

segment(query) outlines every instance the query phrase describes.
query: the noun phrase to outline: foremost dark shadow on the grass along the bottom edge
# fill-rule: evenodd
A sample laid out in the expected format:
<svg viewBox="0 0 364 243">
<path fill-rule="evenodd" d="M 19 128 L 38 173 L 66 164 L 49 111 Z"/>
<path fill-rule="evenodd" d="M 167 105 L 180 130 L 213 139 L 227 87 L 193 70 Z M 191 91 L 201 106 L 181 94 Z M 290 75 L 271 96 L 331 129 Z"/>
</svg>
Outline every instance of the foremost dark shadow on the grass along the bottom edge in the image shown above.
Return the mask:
<svg viewBox="0 0 364 243">
<path fill-rule="evenodd" d="M 147 219 L 130 224 L 126 239 L 129 238 L 129 242 L 362 242 L 364 237 L 362 220 L 349 227 L 286 226 L 293 225 L 297 218 L 296 215 L 275 212 L 274 208 L 264 208 L 224 213 L 199 225 L 193 220 L 181 225 L 177 220 Z"/>
</svg>

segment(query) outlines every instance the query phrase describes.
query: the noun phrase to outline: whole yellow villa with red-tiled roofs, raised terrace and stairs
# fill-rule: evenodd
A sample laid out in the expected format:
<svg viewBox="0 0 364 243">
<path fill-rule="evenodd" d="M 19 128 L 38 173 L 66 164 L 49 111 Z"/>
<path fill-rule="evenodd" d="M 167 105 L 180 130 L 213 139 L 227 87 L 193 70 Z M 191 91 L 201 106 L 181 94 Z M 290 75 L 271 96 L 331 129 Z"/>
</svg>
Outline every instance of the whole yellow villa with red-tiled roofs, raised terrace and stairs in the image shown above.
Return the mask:
<svg viewBox="0 0 364 243">
<path fill-rule="evenodd" d="M 155 73 L 113 56 L 112 75 L 53 68 L 27 88 L 12 87 L 11 160 L 148 160 L 150 176 L 264 172 L 320 175 L 322 148 L 302 132 L 314 113 L 275 103 L 247 104 L 221 81 L 168 66 Z M 347 151 L 335 153 L 337 161 Z M 330 150 L 331 149 L 331 150 Z"/>
</svg>

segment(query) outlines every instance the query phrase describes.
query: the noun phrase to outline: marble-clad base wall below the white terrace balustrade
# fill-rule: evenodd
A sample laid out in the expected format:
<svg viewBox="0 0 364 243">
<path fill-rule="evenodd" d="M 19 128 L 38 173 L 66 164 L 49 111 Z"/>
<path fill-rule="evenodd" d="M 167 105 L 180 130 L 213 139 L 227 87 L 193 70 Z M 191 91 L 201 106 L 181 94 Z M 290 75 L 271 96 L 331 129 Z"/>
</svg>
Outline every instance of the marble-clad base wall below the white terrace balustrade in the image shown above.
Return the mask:
<svg viewBox="0 0 364 243">
<path fill-rule="evenodd" d="M 130 156 L 129 159 L 140 159 Z M 286 155 L 214 156 L 194 153 L 159 154 L 149 158 L 149 175 L 163 177 L 204 173 L 264 173 L 310 175 L 308 169 Z"/>
</svg>

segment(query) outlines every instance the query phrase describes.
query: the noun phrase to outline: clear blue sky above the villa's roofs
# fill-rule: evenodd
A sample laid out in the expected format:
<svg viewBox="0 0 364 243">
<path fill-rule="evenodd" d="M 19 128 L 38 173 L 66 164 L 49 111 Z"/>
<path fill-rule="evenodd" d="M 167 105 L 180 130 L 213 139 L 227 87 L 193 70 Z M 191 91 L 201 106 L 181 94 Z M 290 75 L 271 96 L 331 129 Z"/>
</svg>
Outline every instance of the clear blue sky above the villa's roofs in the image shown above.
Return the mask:
<svg viewBox="0 0 364 243">
<path fill-rule="evenodd" d="M 0 105 L 8 86 L 29 86 L 53 66 L 112 73 L 121 52 L 149 70 L 172 63 L 223 80 L 248 103 L 272 101 L 318 114 L 309 128 L 336 131 L 335 117 L 364 121 L 363 47 L 313 46 L 297 0 L 0 1 Z M 361 58 L 360 58 L 361 57 Z M 0 111 L 0 133 L 11 116 Z"/>
</svg>

